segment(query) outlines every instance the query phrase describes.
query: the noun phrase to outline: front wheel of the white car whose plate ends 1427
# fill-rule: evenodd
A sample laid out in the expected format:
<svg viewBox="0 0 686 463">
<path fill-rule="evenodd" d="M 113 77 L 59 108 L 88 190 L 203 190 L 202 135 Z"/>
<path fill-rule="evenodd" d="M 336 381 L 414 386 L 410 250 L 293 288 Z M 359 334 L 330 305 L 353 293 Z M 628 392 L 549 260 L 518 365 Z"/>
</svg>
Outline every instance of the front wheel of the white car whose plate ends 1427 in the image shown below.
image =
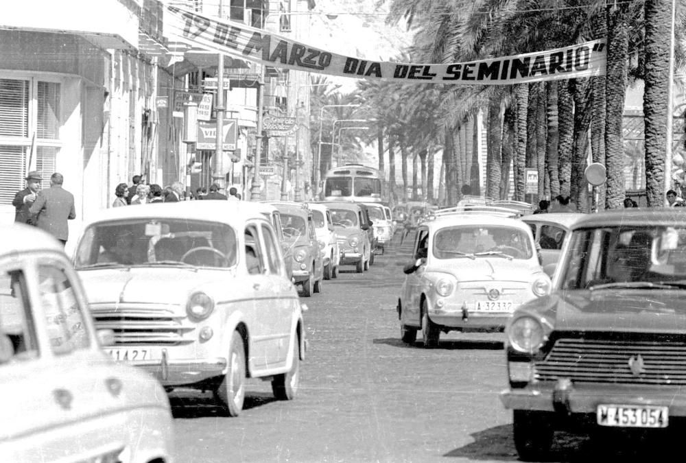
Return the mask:
<svg viewBox="0 0 686 463">
<path fill-rule="evenodd" d="M 246 350 L 243 338 L 234 331 L 228 351 L 228 371 L 215 395 L 228 416 L 238 416 L 246 399 Z"/>
</svg>

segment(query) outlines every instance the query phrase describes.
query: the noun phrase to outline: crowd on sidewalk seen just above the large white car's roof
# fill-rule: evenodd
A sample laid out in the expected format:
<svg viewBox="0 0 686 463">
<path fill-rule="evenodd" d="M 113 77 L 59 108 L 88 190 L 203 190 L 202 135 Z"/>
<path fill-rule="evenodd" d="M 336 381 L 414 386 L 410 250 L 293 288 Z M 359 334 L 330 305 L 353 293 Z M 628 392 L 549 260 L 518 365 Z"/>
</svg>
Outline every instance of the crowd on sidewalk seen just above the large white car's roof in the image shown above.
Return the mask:
<svg viewBox="0 0 686 463">
<path fill-rule="evenodd" d="M 210 192 L 206 188 L 198 188 L 196 195 L 189 195 L 181 182 L 174 182 L 164 189 L 159 185 L 147 185 L 141 182 L 142 177 L 133 176 L 133 185 L 120 183 L 115 189 L 117 197 L 112 203 L 113 207 L 128 206 L 130 204 L 148 204 L 154 202 L 178 202 L 186 200 L 239 200 L 241 199 L 237 189 L 231 187 L 228 190 L 228 198 L 220 193 L 220 187 L 213 184 Z"/>
</svg>

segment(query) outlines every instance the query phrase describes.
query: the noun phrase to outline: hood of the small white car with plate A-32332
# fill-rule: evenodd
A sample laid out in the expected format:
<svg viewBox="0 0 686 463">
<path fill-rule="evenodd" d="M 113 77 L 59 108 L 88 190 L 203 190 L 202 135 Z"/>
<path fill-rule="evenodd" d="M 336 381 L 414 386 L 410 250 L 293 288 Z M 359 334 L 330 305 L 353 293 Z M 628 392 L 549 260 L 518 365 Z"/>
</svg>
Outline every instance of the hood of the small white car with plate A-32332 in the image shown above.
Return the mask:
<svg viewBox="0 0 686 463">
<path fill-rule="evenodd" d="M 543 269 L 534 261 L 513 259 L 508 261 L 502 257 L 480 257 L 474 260 L 445 259 L 431 263 L 427 272 L 448 273 L 460 282 L 468 281 L 521 281 L 526 283 L 534 276 L 543 275 Z"/>
</svg>

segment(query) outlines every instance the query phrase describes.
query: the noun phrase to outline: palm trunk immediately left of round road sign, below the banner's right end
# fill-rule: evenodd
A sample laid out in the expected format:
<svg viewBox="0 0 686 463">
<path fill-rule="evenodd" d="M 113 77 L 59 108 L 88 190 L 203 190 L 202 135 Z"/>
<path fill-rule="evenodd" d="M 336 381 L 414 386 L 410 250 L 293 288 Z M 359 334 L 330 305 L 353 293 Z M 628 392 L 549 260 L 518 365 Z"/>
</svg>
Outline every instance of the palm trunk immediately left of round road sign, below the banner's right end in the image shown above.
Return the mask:
<svg viewBox="0 0 686 463">
<path fill-rule="evenodd" d="M 571 155 L 569 195 L 579 211 L 589 212 L 588 183 L 584 178 L 591 125 L 591 82 L 589 79 L 572 79 L 569 88 L 574 98 L 574 145 Z"/>
</svg>

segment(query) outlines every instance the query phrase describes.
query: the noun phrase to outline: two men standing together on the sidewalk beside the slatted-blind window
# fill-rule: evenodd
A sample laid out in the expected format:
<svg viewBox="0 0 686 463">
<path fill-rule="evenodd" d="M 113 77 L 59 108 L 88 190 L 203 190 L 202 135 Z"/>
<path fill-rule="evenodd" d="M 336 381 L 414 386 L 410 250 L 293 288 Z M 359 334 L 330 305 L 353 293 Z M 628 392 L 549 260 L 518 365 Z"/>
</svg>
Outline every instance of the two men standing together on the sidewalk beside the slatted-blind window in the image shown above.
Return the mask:
<svg viewBox="0 0 686 463">
<path fill-rule="evenodd" d="M 30 171 L 26 188 L 17 191 L 12 200 L 14 222 L 34 225 L 53 235 L 62 245 L 69 238 L 68 220 L 76 218 L 74 195 L 62 188 L 64 177 L 55 172 L 50 176 L 50 187 L 40 189 L 43 178 L 39 171 Z"/>
</svg>

